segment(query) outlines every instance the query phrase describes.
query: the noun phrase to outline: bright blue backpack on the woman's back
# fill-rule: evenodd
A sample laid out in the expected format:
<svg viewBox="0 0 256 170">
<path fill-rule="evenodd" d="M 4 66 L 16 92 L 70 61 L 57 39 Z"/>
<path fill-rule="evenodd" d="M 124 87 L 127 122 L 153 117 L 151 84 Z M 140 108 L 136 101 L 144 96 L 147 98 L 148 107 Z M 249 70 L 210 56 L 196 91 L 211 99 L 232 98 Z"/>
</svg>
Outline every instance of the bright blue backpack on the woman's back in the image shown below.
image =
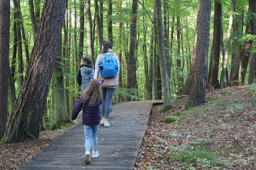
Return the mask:
<svg viewBox="0 0 256 170">
<path fill-rule="evenodd" d="M 104 58 L 99 64 L 100 66 L 100 76 L 104 78 L 117 77 L 118 67 L 117 61 L 113 58 L 113 53 L 107 56 L 103 53 Z"/>
</svg>

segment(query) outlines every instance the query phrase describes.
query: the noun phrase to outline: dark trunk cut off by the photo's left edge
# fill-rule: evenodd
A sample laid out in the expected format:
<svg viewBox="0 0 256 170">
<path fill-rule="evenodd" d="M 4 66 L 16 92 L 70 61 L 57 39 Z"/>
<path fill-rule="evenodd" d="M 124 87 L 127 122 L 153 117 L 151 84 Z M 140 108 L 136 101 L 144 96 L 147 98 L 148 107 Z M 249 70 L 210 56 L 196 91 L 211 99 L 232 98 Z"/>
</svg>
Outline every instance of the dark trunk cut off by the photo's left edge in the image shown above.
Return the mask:
<svg viewBox="0 0 256 170">
<path fill-rule="evenodd" d="M 9 69 L 10 15 L 10 1 L 0 1 L 0 137 L 7 120 L 8 73 L 11 74 Z"/>
</svg>

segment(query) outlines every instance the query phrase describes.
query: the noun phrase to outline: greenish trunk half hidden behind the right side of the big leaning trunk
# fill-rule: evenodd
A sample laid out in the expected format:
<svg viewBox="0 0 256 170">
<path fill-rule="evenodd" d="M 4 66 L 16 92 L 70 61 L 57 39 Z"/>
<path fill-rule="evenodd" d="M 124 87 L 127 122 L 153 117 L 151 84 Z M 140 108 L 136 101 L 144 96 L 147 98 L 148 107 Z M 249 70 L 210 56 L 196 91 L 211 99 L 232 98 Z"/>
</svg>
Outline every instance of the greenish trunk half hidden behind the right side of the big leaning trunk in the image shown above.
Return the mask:
<svg viewBox="0 0 256 170">
<path fill-rule="evenodd" d="M 63 24 L 65 25 L 65 23 Z M 65 112 L 65 93 L 63 82 L 63 67 L 61 66 L 61 38 L 59 40 L 59 48 L 56 56 L 56 61 L 53 70 L 53 105 L 54 105 L 54 117 L 53 117 L 53 130 L 61 128 L 65 125 L 67 114 Z"/>
</svg>

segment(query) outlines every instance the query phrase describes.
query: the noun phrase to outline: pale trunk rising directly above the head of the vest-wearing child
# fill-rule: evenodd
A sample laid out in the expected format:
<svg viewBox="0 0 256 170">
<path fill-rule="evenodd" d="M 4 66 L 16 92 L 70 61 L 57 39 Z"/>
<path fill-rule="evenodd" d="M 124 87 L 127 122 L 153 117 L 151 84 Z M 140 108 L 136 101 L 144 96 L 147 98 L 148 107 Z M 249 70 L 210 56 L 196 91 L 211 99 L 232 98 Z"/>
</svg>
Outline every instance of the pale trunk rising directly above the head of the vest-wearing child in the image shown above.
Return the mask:
<svg viewBox="0 0 256 170">
<path fill-rule="evenodd" d="M 93 54 L 93 44 L 92 44 L 92 15 L 91 15 L 91 9 L 90 9 L 90 0 L 86 0 L 86 44 L 87 44 L 87 51 L 88 56 L 92 58 Z"/>
</svg>

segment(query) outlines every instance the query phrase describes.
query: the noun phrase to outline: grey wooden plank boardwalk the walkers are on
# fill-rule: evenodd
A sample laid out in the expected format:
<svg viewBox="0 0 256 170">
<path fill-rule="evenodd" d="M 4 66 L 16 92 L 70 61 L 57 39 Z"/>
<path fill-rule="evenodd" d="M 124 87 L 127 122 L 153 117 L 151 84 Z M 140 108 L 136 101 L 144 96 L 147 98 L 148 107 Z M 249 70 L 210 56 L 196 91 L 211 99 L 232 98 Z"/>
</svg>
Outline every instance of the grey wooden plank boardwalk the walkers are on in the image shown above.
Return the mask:
<svg viewBox="0 0 256 170">
<path fill-rule="evenodd" d="M 78 124 L 18 169 L 133 169 L 154 103 L 162 101 L 113 105 L 109 120 L 111 126 L 98 128 L 100 157 L 92 158 L 90 164 L 82 159 L 85 152 L 84 128 Z"/>
</svg>

